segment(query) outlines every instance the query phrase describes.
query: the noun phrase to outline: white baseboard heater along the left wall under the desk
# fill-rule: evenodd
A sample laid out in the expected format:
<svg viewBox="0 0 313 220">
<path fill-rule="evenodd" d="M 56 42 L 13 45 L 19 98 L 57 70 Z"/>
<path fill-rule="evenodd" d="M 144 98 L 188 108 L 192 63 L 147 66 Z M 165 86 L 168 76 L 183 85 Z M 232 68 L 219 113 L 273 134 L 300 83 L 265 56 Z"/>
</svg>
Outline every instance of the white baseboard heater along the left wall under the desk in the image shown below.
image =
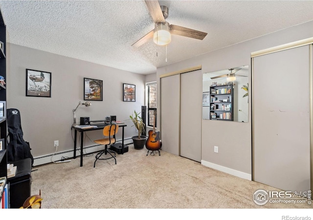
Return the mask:
<svg viewBox="0 0 313 220">
<path fill-rule="evenodd" d="M 117 142 L 121 142 L 121 140 L 118 140 Z M 132 138 L 124 139 L 124 144 L 132 144 L 133 140 Z M 92 145 L 87 146 L 84 148 L 84 154 L 91 154 L 97 151 L 101 151 L 104 149 L 104 145 Z M 58 161 L 61 160 L 62 157 L 72 159 L 74 156 L 74 149 L 63 151 L 63 152 L 56 152 L 55 154 L 46 154 L 42 156 L 34 157 L 34 164 L 33 166 L 39 166 L 47 163 L 52 163 L 52 161 Z M 76 158 L 80 157 L 80 148 L 76 148 Z"/>
</svg>

